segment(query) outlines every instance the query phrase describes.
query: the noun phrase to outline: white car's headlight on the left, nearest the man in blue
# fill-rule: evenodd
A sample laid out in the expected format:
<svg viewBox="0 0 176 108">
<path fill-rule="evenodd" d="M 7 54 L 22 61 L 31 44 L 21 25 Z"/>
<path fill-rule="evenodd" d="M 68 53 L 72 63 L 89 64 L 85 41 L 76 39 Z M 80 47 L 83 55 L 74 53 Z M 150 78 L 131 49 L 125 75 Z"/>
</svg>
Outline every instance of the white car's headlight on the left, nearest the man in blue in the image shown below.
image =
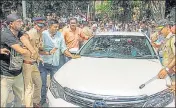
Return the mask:
<svg viewBox="0 0 176 108">
<path fill-rule="evenodd" d="M 64 97 L 64 89 L 63 87 L 55 80 L 53 77 L 49 87 L 54 98 L 63 98 Z"/>
</svg>

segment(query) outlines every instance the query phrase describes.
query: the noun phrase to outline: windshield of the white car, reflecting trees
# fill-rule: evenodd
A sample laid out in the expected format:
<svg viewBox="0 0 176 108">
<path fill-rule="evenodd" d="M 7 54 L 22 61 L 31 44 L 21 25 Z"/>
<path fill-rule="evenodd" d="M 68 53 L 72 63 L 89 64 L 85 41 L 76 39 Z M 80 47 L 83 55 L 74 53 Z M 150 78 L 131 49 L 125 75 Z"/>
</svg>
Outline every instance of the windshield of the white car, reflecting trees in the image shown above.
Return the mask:
<svg viewBox="0 0 176 108">
<path fill-rule="evenodd" d="M 144 36 L 95 36 L 80 50 L 81 56 L 96 58 L 157 59 Z"/>
</svg>

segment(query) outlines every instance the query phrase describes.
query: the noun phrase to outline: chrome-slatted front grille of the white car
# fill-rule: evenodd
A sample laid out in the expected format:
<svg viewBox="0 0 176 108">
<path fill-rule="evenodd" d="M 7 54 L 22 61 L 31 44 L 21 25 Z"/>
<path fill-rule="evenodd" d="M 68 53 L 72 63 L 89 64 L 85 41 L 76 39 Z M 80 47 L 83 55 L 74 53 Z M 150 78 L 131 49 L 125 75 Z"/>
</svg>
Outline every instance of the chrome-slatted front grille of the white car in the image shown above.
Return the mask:
<svg viewBox="0 0 176 108">
<path fill-rule="evenodd" d="M 80 107 L 94 107 L 95 101 L 103 101 L 104 107 L 142 107 L 147 97 L 96 95 L 64 87 L 64 100 Z"/>
</svg>

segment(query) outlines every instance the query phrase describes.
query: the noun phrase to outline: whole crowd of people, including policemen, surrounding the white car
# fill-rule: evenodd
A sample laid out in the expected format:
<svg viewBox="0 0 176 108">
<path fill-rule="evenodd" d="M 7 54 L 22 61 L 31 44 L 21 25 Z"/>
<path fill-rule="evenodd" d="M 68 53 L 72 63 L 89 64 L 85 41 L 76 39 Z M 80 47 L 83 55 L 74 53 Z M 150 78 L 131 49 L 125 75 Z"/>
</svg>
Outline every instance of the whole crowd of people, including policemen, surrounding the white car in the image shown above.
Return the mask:
<svg viewBox="0 0 176 108">
<path fill-rule="evenodd" d="M 26 107 L 47 103 L 47 74 L 52 79 L 72 54 L 98 32 L 143 32 L 160 54 L 163 69 L 158 78 L 175 75 L 175 25 L 169 21 L 81 21 L 55 14 L 22 20 L 17 14 L 7 16 L 1 26 L 1 107 L 6 107 L 9 91 Z M 175 92 L 175 79 L 169 88 Z"/>
</svg>

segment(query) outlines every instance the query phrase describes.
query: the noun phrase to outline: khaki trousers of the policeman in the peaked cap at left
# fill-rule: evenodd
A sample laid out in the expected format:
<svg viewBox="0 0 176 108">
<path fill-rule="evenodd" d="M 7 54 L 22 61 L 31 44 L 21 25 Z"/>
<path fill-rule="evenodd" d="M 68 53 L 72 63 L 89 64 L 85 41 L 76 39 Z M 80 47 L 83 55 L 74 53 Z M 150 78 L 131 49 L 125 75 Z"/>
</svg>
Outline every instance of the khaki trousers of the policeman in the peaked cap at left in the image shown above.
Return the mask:
<svg viewBox="0 0 176 108">
<path fill-rule="evenodd" d="M 37 64 L 23 64 L 25 105 L 33 107 L 33 103 L 40 103 L 42 81 Z"/>
</svg>

